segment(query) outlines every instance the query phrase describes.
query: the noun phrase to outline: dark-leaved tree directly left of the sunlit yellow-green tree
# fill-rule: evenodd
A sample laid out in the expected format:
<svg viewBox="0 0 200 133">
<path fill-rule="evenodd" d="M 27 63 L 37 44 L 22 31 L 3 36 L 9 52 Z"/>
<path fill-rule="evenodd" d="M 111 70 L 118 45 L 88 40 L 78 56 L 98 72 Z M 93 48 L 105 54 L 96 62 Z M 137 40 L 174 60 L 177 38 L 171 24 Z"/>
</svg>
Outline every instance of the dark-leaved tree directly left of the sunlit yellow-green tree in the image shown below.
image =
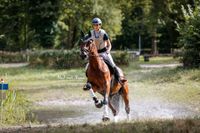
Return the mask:
<svg viewBox="0 0 200 133">
<path fill-rule="evenodd" d="M 60 0 L 29 0 L 29 27 L 38 47 L 52 48 L 56 36 Z"/>
</svg>

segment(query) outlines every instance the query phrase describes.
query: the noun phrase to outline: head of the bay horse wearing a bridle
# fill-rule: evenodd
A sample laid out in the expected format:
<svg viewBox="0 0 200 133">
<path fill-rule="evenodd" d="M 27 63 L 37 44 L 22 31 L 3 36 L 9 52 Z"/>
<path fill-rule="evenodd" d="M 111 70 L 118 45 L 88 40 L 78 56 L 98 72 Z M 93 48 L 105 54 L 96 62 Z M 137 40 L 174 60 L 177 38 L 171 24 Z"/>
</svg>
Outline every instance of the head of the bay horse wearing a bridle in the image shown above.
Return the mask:
<svg viewBox="0 0 200 133">
<path fill-rule="evenodd" d="M 93 55 L 97 52 L 94 41 L 88 36 L 81 39 L 80 50 L 80 56 L 82 59 L 87 59 L 89 55 Z"/>
</svg>

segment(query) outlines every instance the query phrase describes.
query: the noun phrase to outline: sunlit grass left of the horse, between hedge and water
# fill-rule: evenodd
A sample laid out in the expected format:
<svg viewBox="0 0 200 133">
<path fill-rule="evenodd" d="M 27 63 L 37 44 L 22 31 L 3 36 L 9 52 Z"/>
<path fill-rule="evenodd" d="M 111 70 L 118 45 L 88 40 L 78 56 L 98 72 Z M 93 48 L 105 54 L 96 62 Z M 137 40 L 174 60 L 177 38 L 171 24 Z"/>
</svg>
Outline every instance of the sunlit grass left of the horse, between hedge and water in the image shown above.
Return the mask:
<svg viewBox="0 0 200 133">
<path fill-rule="evenodd" d="M 80 88 L 86 80 L 82 69 L 53 70 L 33 68 L 1 68 L 0 73 L 4 75 L 5 82 L 12 83 L 14 90 L 23 91 L 26 94 L 34 92 L 46 92 L 52 90 L 66 90 L 68 94 L 73 91 L 80 92 Z M 73 91 L 70 91 L 73 90 Z M 30 92 L 30 93 L 29 93 Z M 37 95 L 37 94 L 36 94 Z M 28 95 L 29 96 L 29 95 Z M 41 97 L 42 98 L 42 97 Z M 44 97 L 45 98 L 45 97 Z M 35 99 L 32 95 L 32 100 Z"/>
</svg>

